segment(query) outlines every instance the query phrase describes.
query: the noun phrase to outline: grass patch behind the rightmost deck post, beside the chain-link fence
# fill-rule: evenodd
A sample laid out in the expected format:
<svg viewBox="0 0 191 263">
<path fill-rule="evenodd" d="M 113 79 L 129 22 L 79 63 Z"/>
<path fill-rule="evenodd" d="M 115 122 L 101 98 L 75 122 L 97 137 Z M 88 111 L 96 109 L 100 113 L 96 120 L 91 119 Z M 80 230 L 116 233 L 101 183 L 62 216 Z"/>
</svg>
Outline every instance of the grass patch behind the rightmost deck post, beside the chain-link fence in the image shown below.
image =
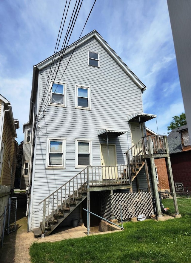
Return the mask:
<svg viewBox="0 0 191 263">
<path fill-rule="evenodd" d="M 191 215 L 191 199 L 189 198 L 179 198 L 177 197 L 178 210 L 181 215 Z M 169 207 L 169 213 L 174 214 L 174 202 L 173 199 L 162 199 L 162 204 L 164 207 Z M 191 262 L 191 259 L 190 259 Z"/>
</svg>

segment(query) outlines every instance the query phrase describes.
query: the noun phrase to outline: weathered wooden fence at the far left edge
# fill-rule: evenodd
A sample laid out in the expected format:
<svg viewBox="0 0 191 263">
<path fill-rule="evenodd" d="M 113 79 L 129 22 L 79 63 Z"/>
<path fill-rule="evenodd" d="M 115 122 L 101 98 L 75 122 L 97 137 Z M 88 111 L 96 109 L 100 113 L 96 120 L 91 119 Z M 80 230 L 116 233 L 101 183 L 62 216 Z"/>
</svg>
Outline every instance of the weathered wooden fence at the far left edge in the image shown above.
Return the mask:
<svg viewBox="0 0 191 263">
<path fill-rule="evenodd" d="M 0 241 L 3 234 L 3 222 L 4 222 L 4 211 L 5 206 L 8 209 L 8 200 L 10 197 L 10 186 L 0 185 Z M 6 211 L 7 211 L 6 209 Z M 6 215 L 5 215 L 6 216 Z"/>
</svg>

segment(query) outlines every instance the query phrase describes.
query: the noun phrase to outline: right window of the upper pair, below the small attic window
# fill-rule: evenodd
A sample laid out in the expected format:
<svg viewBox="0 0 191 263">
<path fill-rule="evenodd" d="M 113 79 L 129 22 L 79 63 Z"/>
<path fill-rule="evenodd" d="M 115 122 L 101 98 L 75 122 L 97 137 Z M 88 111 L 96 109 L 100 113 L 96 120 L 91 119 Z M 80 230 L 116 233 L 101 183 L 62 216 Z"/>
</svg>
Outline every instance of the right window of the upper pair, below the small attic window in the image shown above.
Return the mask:
<svg viewBox="0 0 191 263">
<path fill-rule="evenodd" d="M 76 85 L 76 105 L 77 109 L 90 110 L 90 87 Z"/>
</svg>

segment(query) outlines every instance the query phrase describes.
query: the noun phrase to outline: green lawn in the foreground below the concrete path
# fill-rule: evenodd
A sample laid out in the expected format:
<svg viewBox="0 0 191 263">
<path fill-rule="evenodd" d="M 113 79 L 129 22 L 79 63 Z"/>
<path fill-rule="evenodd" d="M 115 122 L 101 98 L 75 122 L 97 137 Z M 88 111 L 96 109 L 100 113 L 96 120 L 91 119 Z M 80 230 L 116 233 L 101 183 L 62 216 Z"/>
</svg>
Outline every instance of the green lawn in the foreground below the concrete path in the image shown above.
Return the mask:
<svg viewBox="0 0 191 263">
<path fill-rule="evenodd" d="M 191 217 L 124 223 L 123 232 L 90 235 L 54 243 L 33 243 L 37 263 L 184 263 L 191 262 Z"/>
</svg>

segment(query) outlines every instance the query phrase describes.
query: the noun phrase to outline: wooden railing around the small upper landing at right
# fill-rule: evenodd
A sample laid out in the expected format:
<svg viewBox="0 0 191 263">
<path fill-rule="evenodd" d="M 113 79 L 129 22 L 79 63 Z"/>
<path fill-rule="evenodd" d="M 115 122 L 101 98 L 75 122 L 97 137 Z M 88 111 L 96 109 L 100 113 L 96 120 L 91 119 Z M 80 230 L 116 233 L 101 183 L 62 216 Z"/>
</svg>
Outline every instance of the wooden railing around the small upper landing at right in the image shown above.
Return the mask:
<svg viewBox="0 0 191 263">
<path fill-rule="evenodd" d="M 163 135 L 147 135 L 143 137 L 145 154 L 166 154 L 167 136 Z"/>
</svg>

